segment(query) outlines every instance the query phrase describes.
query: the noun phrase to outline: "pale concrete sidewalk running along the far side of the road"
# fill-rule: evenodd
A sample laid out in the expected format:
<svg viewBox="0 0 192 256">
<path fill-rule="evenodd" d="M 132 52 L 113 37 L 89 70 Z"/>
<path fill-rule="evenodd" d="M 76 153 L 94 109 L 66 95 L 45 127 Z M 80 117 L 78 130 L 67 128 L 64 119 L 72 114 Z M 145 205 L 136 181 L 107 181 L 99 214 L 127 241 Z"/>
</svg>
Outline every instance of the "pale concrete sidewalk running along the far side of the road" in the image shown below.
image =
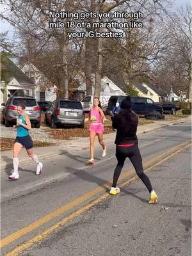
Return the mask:
<svg viewBox="0 0 192 256">
<path fill-rule="evenodd" d="M 191 120 L 191 116 L 189 116 L 188 118 L 180 118 L 179 120 L 173 120 L 173 121 L 158 120 L 158 121 L 154 121 L 151 124 L 140 125 L 138 126 L 137 135 L 151 132 L 151 131 L 156 131 L 166 126 L 172 126 L 172 125 L 188 122 L 189 120 Z M 104 134 L 104 140 L 106 141 L 106 144 L 108 145 L 109 143 L 114 143 L 115 136 L 116 136 L 115 132 L 111 134 Z M 82 150 L 83 148 L 89 148 L 89 138 L 78 138 L 76 140 L 63 140 L 63 143 L 60 143 L 60 145 L 34 148 L 34 151 L 35 151 L 35 154 L 38 156 L 38 159 L 42 161 L 42 159 L 49 159 L 49 158 L 60 156 L 61 154 L 63 154 L 63 150 L 70 152 L 71 150 L 74 150 L 74 149 Z M 29 161 L 30 159 L 26 153 L 26 150 L 23 148 L 19 154 L 19 165 L 22 166 L 22 165 L 28 164 Z M 1 152 L 1 171 L 8 168 L 12 168 L 12 166 L 13 166 L 12 150 Z"/>
</svg>

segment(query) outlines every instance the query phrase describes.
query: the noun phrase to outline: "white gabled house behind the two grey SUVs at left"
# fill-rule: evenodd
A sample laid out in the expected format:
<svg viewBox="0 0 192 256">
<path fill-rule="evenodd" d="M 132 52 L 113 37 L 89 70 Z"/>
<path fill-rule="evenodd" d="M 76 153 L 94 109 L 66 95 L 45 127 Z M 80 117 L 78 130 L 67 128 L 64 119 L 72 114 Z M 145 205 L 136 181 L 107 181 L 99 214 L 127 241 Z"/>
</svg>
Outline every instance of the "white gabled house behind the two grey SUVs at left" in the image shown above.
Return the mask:
<svg viewBox="0 0 192 256">
<path fill-rule="evenodd" d="M 38 101 L 53 101 L 56 99 L 57 87 L 51 84 L 49 79 L 38 70 L 32 63 L 26 63 L 22 67 L 22 72 L 26 74 L 35 84 L 35 99 Z"/>
</svg>

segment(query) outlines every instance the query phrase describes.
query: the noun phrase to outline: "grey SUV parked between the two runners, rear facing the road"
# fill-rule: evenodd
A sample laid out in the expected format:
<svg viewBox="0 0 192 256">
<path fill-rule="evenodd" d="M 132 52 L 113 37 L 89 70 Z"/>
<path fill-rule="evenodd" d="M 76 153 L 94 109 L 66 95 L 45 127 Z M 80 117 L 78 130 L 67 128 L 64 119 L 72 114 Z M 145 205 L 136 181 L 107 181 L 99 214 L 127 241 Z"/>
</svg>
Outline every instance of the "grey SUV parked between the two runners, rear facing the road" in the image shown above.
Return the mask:
<svg viewBox="0 0 192 256">
<path fill-rule="evenodd" d="M 56 99 L 45 112 L 45 124 L 51 128 L 58 125 L 84 127 L 84 112 L 81 102 L 70 99 Z"/>
</svg>

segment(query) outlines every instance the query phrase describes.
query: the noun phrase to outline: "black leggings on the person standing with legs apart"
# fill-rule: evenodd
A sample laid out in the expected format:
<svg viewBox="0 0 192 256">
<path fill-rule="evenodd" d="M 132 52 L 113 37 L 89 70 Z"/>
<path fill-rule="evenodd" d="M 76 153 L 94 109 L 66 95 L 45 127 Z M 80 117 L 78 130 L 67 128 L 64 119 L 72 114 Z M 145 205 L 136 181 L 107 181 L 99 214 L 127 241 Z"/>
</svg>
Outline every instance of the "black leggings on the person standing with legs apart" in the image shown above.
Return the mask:
<svg viewBox="0 0 192 256">
<path fill-rule="evenodd" d="M 116 146 L 116 159 L 118 161 L 115 172 L 113 175 L 113 188 L 116 188 L 116 183 L 122 168 L 124 167 L 125 159 L 129 157 L 131 163 L 133 164 L 137 175 L 143 181 L 145 186 L 147 187 L 148 191 L 152 191 L 152 186 L 150 184 L 150 180 L 148 179 L 147 175 L 143 172 L 143 164 L 141 159 L 140 150 L 138 148 L 138 144 L 134 144 L 130 147 L 118 147 Z"/>
</svg>

